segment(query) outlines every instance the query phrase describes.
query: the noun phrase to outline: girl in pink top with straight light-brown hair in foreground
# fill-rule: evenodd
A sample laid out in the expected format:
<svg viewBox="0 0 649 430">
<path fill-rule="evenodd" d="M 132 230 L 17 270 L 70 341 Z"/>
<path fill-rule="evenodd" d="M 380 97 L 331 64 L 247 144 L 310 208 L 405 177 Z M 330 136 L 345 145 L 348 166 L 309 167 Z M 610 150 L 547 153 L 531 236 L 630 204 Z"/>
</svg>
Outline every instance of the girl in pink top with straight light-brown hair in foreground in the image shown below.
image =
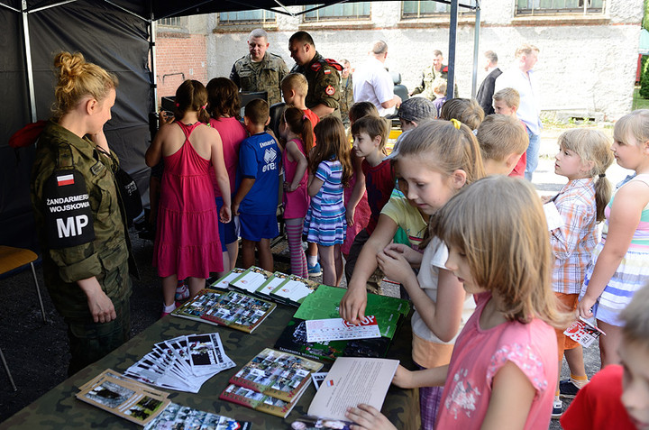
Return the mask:
<svg viewBox="0 0 649 430">
<path fill-rule="evenodd" d="M 403 388 L 444 385 L 436 428 L 546 430 L 553 407 L 557 309 L 553 257 L 535 188 L 490 176 L 464 188 L 437 212 L 433 233 L 449 247 L 446 268 L 474 294 L 476 310 L 447 366 L 399 367 Z M 553 325 L 553 326 L 552 326 Z M 352 428 L 391 427 L 367 405 L 352 407 Z"/>
</svg>

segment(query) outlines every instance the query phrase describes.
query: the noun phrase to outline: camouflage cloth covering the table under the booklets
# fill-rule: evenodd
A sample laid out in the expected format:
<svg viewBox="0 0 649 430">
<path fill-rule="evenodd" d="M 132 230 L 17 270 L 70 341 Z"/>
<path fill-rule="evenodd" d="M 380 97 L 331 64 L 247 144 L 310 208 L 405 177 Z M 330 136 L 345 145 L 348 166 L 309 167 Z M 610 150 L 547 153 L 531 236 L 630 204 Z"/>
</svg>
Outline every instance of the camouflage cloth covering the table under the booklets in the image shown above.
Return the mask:
<svg viewBox="0 0 649 430">
<path fill-rule="evenodd" d="M 236 367 L 218 373 L 207 380 L 198 394 L 180 391 L 168 391 L 171 401 L 179 405 L 194 407 L 238 420 L 250 421 L 253 429 L 285 429 L 290 427 L 297 416 L 306 415 L 306 410 L 315 395 L 311 384 L 300 398 L 297 406 L 286 419 L 270 416 L 247 407 L 242 407 L 224 400 L 219 394 L 227 387 L 228 380 L 241 369 L 242 365 L 261 352 L 265 347 L 272 347 L 279 334 L 295 313 L 295 307 L 278 305 L 272 314 L 252 333 L 246 334 L 230 328 L 208 325 L 166 316 L 144 330 L 128 343 L 123 344 L 104 359 L 79 371 L 63 381 L 54 389 L 33 402 L 28 407 L 0 424 L 0 428 L 29 429 L 63 429 L 63 428 L 142 428 L 104 410 L 87 405 L 77 400 L 78 387 L 91 380 L 105 369 L 123 372 L 135 361 L 151 352 L 153 343 L 170 339 L 182 334 L 218 333 L 224 343 L 225 352 L 236 363 Z M 401 360 L 408 369 L 415 369 L 410 358 L 412 334 L 409 319 L 404 322 L 395 340 L 388 358 Z M 324 370 L 328 369 L 325 363 Z M 398 389 L 390 387 L 388 397 L 383 404 L 382 412 L 399 429 L 419 428 L 419 396 L 416 389 Z"/>
</svg>

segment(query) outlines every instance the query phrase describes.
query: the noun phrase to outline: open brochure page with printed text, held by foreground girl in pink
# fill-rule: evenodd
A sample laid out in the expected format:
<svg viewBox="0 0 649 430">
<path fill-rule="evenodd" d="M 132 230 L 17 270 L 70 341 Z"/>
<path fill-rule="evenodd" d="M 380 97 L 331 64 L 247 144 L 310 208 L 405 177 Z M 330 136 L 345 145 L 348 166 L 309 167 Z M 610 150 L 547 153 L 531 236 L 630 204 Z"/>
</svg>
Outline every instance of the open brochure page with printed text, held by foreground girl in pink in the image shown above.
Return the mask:
<svg viewBox="0 0 649 430">
<path fill-rule="evenodd" d="M 334 361 L 308 408 L 309 416 L 345 421 L 348 407 L 383 406 L 398 360 L 340 357 Z"/>
</svg>

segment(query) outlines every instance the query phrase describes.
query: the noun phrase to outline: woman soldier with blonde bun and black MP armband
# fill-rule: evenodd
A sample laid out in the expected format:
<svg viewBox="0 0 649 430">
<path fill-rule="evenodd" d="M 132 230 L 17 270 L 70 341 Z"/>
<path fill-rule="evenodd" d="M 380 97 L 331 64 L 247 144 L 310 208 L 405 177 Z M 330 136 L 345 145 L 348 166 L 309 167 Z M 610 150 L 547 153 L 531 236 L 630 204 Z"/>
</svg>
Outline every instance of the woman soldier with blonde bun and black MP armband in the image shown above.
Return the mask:
<svg viewBox="0 0 649 430">
<path fill-rule="evenodd" d="M 39 137 L 31 194 L 45 284 L 68 324 L 71 375 L 128 340 L 133 260 L 103 131 L 117 79 L 80 53 L 60 53 L 54 65 L 56 119 Z"/>
</svg>

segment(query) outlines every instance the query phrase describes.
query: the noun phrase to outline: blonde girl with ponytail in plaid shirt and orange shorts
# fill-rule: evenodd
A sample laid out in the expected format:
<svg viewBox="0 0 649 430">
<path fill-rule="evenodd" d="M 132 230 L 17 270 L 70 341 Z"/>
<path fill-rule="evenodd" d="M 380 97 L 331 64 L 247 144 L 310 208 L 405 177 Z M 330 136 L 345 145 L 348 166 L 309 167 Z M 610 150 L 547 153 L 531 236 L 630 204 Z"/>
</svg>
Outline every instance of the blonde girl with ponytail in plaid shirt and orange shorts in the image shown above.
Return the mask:
<svg viewBox="0 0 649 430">
<path fill-rule="evenodd" d="M 554 173 L 568 178 L 559 194 L 544 200 L 552 200 L 564 224 L 550 232 L 552 246 L 553 290 L 566 310 L 577 308 L 590 254 L 598 242 L 597 224 L 604 220 L 604 208 L 610 199 L 611 186 L 606 170 L 613 163 L 610 140 L 597 130 L 573 129 L 559 136 L 559 151 L 554 156 Z M 563 352 L 571 370 L 571 380 L 561 383 L 564 394 L 574 396 L 586 382 L 583 354 L 579 343 L 556 331 L 559 370 Z M 553 417 L 562 415 L 559 399 L 560 382 L 554 393 Z"/>
</svg>

